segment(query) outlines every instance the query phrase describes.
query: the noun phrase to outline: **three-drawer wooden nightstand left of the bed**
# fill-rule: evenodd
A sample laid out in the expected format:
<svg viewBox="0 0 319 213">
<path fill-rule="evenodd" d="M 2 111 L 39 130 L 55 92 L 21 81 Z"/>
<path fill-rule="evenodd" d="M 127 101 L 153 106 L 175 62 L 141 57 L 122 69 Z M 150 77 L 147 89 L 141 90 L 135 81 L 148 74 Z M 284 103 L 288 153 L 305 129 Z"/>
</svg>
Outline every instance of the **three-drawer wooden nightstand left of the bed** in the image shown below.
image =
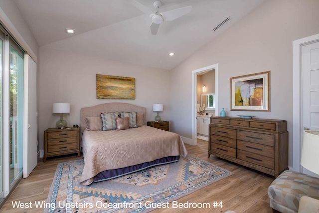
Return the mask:
<svg viewBox="0 0 319 213">
<path fill-rule="evenodd" d="M 80 156 L 80 128 L 49 128 L 44 131 L 44 156 L 47 157 L 77 153 Z"/>
</svg>

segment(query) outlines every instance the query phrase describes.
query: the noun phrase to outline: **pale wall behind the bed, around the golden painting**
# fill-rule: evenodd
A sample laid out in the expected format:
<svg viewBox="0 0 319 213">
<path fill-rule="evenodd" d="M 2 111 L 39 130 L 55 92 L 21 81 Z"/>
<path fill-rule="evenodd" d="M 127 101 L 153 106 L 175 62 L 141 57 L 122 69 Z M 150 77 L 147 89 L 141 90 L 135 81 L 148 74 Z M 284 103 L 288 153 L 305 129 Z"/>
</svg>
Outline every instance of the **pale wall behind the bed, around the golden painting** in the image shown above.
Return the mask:
<svg viewBox="0 0 319 213">
<path fill-rule="evenodd" d="M 52 104 L 71 104 L 71 113 L 63 116 L 68 126 L 80 124 L 80 109 L 102 103 L 123 102 L 147 108 L 147 121 L 157 115 L 153 104 L 163 104 L 160 116 L 170 120 L 169 71 L 147 66 L 122 63 L 54 49 L 54 44 L 40 47 L 40 149 L 43 150 L 43 132 L 54 128 L 59 120 L 52 114 Z M 96 74 L 136 78 L 135 100 L 96 99 Z M 41 153 L 43 155 L 43 153 Z"/>
</svg>

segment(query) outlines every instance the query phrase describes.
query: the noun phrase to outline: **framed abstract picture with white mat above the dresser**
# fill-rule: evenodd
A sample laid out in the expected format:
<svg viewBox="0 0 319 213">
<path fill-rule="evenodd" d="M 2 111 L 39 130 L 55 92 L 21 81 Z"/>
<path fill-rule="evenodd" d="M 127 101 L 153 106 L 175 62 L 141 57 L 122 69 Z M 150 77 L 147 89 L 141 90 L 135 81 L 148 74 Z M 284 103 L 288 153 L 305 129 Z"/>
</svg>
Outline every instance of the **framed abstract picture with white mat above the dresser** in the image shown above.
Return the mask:
<svg viewBox="0 0 319 213">
<path fill-rule="evenodd" d="M 231 111 L 270 111 L 270 71 L 230 78 Z"/>
</svg>

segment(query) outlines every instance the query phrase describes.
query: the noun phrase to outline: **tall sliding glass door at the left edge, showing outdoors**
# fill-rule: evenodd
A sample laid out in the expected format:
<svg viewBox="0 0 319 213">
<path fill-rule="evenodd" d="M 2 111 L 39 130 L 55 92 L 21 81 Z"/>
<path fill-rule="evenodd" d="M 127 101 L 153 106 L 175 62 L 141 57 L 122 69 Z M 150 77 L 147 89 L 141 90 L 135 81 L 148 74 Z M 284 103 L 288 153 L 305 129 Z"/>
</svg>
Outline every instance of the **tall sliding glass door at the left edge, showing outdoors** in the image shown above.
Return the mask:
<svg viewBox="0 0 319 213">
<path fill-rule="evenodd" d="M 0 203 L 23 172 L 24 52 L 0 27 Z"/>
</svg>

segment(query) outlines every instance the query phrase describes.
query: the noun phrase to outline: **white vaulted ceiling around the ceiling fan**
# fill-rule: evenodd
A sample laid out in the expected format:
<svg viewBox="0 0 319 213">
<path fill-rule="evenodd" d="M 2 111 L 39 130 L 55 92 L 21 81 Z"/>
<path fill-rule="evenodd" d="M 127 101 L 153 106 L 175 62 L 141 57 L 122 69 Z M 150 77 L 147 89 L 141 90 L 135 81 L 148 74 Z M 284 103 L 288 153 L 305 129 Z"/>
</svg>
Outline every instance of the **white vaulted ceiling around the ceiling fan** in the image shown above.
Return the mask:
<svg viewBox="0 0 319 213">
<path fill-rule="evenodd" d="M 264 1 L 161 0 L 160 12 L 189 5 L 192 10 L 162 22 L 152 35 L 150 14 L 136 5 L 155 12 L 154 0 L 15 0 L 40 46 L 168 70 Z M 213 32 L 227 17 L 231 19 Z M 175 55 L 168 56 L 170 52 Z"/>
</svg>

